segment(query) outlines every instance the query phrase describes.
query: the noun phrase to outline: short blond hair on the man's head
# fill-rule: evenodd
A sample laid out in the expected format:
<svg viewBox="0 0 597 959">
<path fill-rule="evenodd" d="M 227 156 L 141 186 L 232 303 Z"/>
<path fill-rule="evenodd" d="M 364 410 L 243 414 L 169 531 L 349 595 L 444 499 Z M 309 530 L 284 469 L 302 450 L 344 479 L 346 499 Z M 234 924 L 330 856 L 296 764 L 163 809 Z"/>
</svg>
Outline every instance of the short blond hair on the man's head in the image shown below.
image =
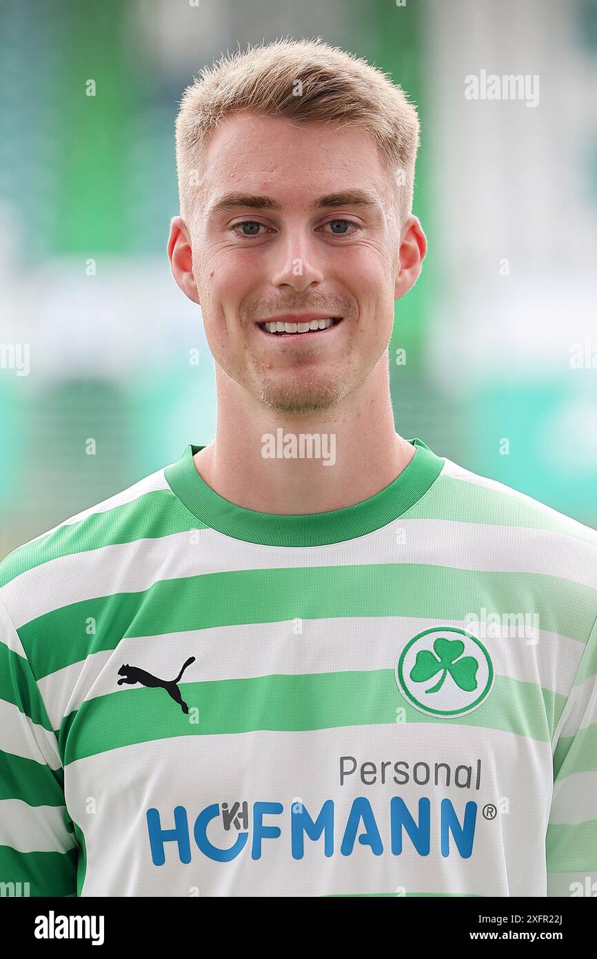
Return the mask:
<svg viewBox="0 0 597 959">
<path fill-rule="evenodd" d="M 251 111 L 293 122 L 341 123 L 371 134 L 394 185 L 401 224 L 411 213 L 419 118 L 402 87 L 321 37 L 248 45 L 204 67 L 175 123 L 180 215 L 195 214 L 201 156 L 222 117 Z"/>
</svg>

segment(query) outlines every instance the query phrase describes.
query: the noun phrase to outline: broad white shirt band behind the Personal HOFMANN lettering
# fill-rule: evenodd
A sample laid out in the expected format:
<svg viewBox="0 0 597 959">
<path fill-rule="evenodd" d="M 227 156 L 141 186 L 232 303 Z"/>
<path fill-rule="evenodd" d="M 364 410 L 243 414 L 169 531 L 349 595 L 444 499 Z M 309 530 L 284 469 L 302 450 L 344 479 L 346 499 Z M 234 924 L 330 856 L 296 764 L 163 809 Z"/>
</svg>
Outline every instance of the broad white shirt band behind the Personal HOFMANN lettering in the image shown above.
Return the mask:
<svg viewBox="0 0 597 959">
<path fill-rule="evenodd" d="M 465 735 L 466 730 L 466 735 Z M 363 784 L 358 772 L 339 784 L 339 760 L 373 761 L 378 782 Z M 416 762 L 447 762 L 452 780 L 458 765 L 476 768 L 481 788 L 453 781 L 394 784 L 393 764 L 404 760 L 412 774 Z M 387 780 L 379 782 L 381 763 L 390 761 Z M 370 770 L 366 770 L 370 772 Z M 473 773 L 474 776 L 474 773 Z M 551 800 L 549 743 L 465 726 L 408 723 L 279 733 L 260 731 L 229 736 L 179 737 L 126 746 L 73 762 L 66 771 L 66 805 L 85 837 L 87 869 L 82 896 L 316 897 L 327 894 L 407 892 L 470 893 L 479 896 L 544 896 L 545 830 Z M 474 784 L 474 780 L 473 780 Z M 101 789 L 94 815 L 85 797 Z M 419 800 L 431 802 L 430 851 L 420 855 L 404 832 L 402 854 L 390 845 L 390 799 L 402 796 L 417 821 Z M 375 855 L 356 838 L 353 853 L 340 853 L 350 808 L 364 796 L 373 809 L 383 853 Z M 440 850 L 441 800 L 450 799 L 462 822 L 466 803 L 477 804 L 473 854 L 462 858 L 453 838 L 450 854 Z M 485 804 L 508 797 L 509 813 L 484 818 Z M 323 803 L 334 802 L 333 856 L 323 853 L 323 837 L 305 837 L 305 855 L 293 859 L 289 815 L 301 802 L 315 819 Z M 246 801 L 249 839 L 233 861 L 214 862 L 195 844 L 195 818 L 212 804 Z M 265 814 L 264 825 L 282 830 L 264 838 L 262 858 L 251 858 L 253 803 L 279 802 L 282 814 Z M 182 864 L 177 844 L 165 843 L 166 861 L 154 866 L 149 852 L 146 813 L 156 808 L 162 829 L 174 825 L 174 807 L 185 807 L 191 862 Z M 357 832 L 364 831 L 362 821 Z M 221 848 L 238 836 L 214 820 L 208 832 Z"/>
</svg>

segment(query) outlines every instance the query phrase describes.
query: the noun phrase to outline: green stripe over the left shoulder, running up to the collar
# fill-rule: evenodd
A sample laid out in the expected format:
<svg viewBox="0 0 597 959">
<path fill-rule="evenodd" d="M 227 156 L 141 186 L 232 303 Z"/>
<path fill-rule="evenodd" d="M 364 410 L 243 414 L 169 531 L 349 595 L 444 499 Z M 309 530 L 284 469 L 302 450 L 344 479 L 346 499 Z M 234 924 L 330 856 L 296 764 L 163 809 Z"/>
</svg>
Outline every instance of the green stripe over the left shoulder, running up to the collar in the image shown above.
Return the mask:
<svg viewBox="0 0 597 959">
<path fill-rule="evenodd" d="M 188 513 L 172 490 L 156 489 L 131 503 L 91 513 L 77 523 L 58 526 L 53 532 L 12 550 L 0 563 L 0 586 L 51 559 L 201 528 L 202 524 Z"/>
</svg>

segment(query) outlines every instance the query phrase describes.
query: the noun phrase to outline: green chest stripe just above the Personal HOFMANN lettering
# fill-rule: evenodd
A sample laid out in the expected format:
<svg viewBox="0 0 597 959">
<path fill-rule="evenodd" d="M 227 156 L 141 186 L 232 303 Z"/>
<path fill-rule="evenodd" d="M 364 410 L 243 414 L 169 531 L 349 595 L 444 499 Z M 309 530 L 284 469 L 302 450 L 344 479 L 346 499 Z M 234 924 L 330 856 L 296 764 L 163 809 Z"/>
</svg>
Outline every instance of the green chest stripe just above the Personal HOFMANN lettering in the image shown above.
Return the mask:
<svg viewBox="0 0 597 959">
<path fill-rule="evenodd" d="M 484 727 L 549 742 L 545 703 L 553 693 L 531 683 L 497 676 L 494 690 L 474 712 L 452 719 L 419 713 L 402 697 L 394 671 L 271 675 L 253 679 L 180 683 L 190 713 L 185 715 L 166 690 L 112 692 L 82 703 L 62 722 L 58 734 L 64 766 L 111 749 L 181 736 L 219 736 L 256 730 L 307 732 L 338 726 L 396 724 L 404 708 L 408 723 L 449 722 Z M 190 721 L 198 711 L 198 721 Z M 563 708 L 563 703 L 561 708 Z M 456 735 L 456 734 L 455 734 Z M 400 739 L 400 731 L 397 729 Z"/>
</svg>

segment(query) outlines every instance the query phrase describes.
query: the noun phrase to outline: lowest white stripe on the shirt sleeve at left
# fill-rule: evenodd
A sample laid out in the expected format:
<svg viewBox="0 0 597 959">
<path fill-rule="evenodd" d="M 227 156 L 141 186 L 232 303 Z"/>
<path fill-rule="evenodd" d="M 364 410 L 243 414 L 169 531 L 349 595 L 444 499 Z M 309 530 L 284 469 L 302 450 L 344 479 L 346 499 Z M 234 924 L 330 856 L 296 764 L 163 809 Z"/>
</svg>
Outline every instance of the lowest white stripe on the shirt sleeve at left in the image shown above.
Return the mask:
<svg viewBox="0 0 597 959">
<path fill-rule="evenodd" d="M 64 825 L 63 806 L 0 800 L 0 846 L 10 846 L 18 853 L 66 853 L 76 845 Z"/>
</svg>

